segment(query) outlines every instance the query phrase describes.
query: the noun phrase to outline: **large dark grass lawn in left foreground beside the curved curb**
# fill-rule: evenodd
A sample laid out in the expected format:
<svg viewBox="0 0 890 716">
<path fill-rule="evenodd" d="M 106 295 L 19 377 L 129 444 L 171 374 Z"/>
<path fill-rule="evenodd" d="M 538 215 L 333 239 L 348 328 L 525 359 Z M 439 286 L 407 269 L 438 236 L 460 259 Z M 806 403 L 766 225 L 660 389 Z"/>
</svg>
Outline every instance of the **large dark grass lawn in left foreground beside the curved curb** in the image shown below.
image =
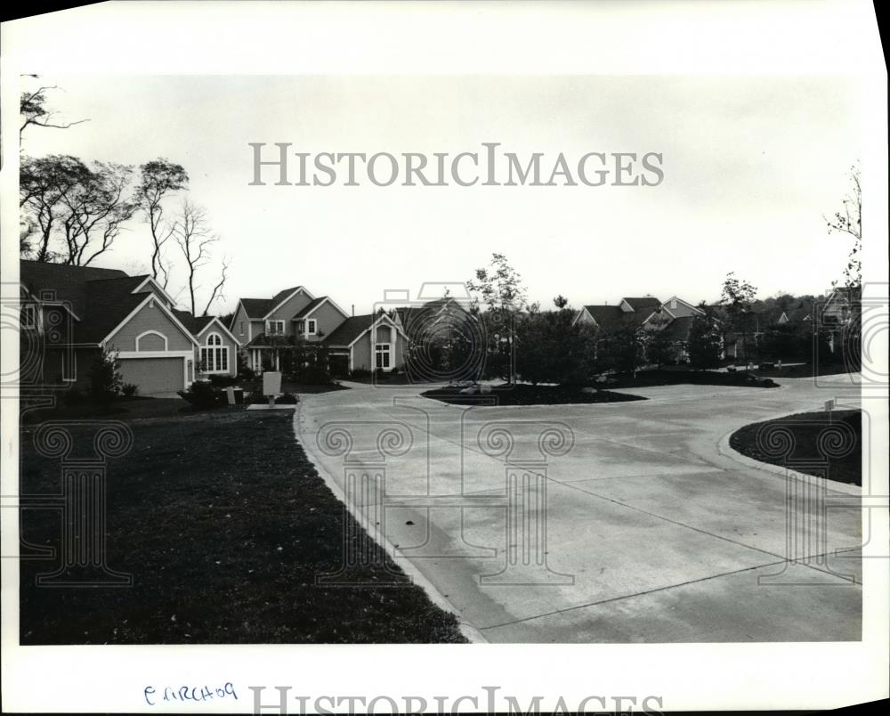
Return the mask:
<svg viewBox="0 0 890 716">
<path fill-rule="evenodd" d="M 119 419 L 119 416 L 115 416 Z M 108 565 L 131 588 L 37 588 L 54 560 L 20 563 L 20 639 L 35 644 L 461 642 L 457 619 L 410 585 L 322 587 L 342 559 L 345 515 L 294 439 L 292 414 L 243 407 L 138 420 L 109 461 Z M 75 450 L 92 432 L 77 427 Z M 23 493 L 60 490 L 57 460 L 22 431 Z M 348 521 L 344 524 L 344 520 Z M 57 547 L 60 516 L 22 512 L 22 532 Z M 384 563 L 384 560 L 386 562 Z M 384 580 L 386 557 L 363 568 Z"/>
</svg>

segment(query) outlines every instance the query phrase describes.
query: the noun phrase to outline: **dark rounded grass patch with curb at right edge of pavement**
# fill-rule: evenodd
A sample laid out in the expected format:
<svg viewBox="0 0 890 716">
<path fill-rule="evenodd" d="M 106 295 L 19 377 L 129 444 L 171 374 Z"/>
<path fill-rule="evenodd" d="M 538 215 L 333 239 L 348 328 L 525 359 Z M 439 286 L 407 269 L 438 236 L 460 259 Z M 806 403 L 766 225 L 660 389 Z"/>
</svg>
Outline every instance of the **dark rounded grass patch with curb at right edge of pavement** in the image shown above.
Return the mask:
<svg viewBox="0 0 890 716">
<path fill-rule="evenodd" d="M 736 430 L 730 436 L 729 443 L 733 450 L 742 455 L 784 467 L 781 458 L 766 454 L 758 447 L 757 433 L 768 425 L 787 424 L 795 441 L 789 456 L 789 467 L 793 468 L 795 460 L 821 460 L 821 453 L 817 449 L 819 435 L 825 428 L 837 423 L 852 428 L 856 445 L 849 455 L 829 460 L 828 476 L 837 482 L 862 485 L 862 411 L 801 412 L 785 418 L 751 423 Z"/>
</svg>

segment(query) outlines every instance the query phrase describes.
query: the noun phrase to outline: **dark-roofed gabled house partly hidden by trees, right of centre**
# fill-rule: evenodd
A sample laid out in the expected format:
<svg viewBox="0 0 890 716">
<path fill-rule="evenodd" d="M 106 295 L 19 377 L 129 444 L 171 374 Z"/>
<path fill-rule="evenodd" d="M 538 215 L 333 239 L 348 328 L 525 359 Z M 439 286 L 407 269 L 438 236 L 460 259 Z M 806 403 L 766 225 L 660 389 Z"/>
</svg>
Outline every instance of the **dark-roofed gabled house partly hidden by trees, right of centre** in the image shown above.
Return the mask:
<svg viewBox="0 0 890 716">
<path fill-rule="evenodd" d="M 592 326 L 597 331 L 659 330 L 670 340 L 676 359 L 688 357 L 689 331 L 696 315 L 702 311 L 680 297 L 659 301 L 656 297 L 622 298 L 615 305 L 582 306 L 573 322 Z"/>
</svg>

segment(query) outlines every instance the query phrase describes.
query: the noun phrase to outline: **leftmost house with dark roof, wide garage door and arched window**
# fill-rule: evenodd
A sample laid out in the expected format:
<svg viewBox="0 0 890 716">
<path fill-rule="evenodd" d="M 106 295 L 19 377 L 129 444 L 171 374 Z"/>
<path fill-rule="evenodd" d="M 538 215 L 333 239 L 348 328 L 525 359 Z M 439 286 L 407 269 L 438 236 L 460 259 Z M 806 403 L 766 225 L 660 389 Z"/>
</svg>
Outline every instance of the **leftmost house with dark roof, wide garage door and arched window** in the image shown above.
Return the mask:
<svg viewBox="0 0 890 716">
<path fill-rule="evenodd" d="M 37 386 L 89 386 L 103 351 L 141 395 L 174 395 L 214 373 L 234 374 L 237 340 L 214 316 L 177 311 L 148 275 L 20 261 L 20 345 Z"/>
</svg>

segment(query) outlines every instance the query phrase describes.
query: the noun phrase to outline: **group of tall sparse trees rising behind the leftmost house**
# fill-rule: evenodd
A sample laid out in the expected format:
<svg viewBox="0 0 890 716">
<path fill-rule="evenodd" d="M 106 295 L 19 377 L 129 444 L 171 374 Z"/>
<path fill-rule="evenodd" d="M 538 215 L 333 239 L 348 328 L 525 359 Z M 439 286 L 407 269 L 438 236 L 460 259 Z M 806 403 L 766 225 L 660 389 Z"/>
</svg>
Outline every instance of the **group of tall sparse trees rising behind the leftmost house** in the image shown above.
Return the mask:
<svg viewBox="0 0 890 716">
<path fill-rule="evenodd" d="M 35 77 L 35 76 L 29 76 Z M 89 121 L 61 122 L 48 106 L 54 86 L 20 95 L 20 138 L 30 127 L 68 129 Z M 188 196 L 182 165 L 165 158 L 139 167 L 88 161 L 69 154 L 22 153 L 19 174 L 20 256 L 35 261 L 89 266 L 109 252 L 129 225 L 148 225 L 151 277 L 165 290 L 186 294 L 191 313 L 206 315 L 223 298 L 229 264 L 218 257 L 220 240 L 206 214 Z M 183 278 L 184 277 L 184 278 Z M 178 281 L 177 281 L 178 278 Z"/>
</svg>

